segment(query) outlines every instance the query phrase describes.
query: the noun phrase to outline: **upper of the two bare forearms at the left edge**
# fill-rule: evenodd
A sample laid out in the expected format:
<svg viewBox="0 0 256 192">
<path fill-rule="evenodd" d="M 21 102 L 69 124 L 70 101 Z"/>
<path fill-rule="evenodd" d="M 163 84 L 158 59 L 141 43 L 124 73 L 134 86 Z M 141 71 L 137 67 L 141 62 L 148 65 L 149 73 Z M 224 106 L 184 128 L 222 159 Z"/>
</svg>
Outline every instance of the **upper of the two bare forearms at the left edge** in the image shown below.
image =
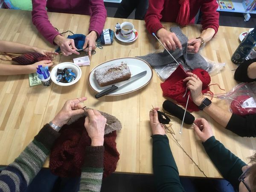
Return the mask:
<svg viewBox="0 0 256 192">
<path fill-rule="evenodd" d="M 26 53 L 26 52 L 36 52 L 36 47 L 29 45 L 19 44 L 11 41 L 0 41 L 0 52 L 10 52 L 10 53 Z"/>
</svg>

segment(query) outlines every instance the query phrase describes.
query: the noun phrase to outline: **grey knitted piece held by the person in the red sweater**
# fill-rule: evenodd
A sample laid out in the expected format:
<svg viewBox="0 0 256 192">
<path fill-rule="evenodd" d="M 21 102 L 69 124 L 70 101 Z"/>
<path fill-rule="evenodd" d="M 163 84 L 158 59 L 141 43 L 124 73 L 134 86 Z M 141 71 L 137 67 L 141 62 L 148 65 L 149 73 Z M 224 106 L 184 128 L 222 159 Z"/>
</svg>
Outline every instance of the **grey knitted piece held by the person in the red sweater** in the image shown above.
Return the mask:
<svg viewBox="0 0 256 192">
<path fill-rule="evenodd" d="M 178 62 L 181 61 L 180 59 L 186 60 L 186 65 L 191 70 L 201 68 L 203 70 L 209 71 L 212 68 L 212 64 L 205 61 L 205 59 L 199 53 L 186 54 L 188 39 L 186 35 L 183 34 L 180 27 L 171 27 L 170 31 L 175 33 L 177 38 L 180 40 L 180 43 L 182 44 L 182 50 L 176 49 L 175 51 L 169 51 Z M 166 50 L 164 50 L 161 53 L 151 53 L 145 56 L 136 57 L 147 61 L 151 67 L 159 67 L 161 65 L 176 63 L 172 56 L 169 55 Z"/>
</svg>

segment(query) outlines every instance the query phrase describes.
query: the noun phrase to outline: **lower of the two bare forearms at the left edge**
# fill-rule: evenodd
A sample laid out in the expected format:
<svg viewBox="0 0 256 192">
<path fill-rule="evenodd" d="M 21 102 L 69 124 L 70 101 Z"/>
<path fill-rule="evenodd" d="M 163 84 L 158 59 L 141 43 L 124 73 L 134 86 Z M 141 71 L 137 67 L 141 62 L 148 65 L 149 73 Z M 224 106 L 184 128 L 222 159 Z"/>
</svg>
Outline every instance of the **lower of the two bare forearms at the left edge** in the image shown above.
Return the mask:
<svg viewBox="0 0 256 192">
<path fill-rule="evenodd" d="M 31 65 L 0 64 L 0 76 L 22 75 L 35 72 L 35 67 L 31 67 Z"/>
</svg>

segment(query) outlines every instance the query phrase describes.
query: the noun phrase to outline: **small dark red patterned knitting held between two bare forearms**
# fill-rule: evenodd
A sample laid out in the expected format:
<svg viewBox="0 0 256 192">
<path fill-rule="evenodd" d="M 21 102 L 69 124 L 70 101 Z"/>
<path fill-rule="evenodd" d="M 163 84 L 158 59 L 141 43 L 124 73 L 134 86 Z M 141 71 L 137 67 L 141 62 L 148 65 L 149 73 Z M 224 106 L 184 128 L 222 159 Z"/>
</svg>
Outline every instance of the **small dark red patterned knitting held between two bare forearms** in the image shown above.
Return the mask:
<svg viewBox="0 0 256 192">
<path fill-rule="evenodd" d="M 24 55 L 20 55 L 18 57 L 12 58 L 12 61 L 16 61 L 21 65 L 30 65 L 43 60 L 52 60 L 52 59 L 46 55 L 43 55 L 37 52 L 30 52 L 30 53 L 26 53 Z"/>
</svg>

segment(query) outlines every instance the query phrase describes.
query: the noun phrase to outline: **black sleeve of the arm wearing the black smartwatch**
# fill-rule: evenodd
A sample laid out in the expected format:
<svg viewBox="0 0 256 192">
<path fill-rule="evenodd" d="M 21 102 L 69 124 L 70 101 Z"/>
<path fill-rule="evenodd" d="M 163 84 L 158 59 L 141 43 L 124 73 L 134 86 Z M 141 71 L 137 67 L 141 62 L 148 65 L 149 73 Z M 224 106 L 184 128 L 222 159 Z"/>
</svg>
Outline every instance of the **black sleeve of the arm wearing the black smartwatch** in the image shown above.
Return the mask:
<svg viewBox="0 0 256 192">
<path fill-rule="evenodd" d="M 233 113 L 226 129 L 241 137 L 256 137 L 256 114 L 239 116 Z"/>
</svg>

